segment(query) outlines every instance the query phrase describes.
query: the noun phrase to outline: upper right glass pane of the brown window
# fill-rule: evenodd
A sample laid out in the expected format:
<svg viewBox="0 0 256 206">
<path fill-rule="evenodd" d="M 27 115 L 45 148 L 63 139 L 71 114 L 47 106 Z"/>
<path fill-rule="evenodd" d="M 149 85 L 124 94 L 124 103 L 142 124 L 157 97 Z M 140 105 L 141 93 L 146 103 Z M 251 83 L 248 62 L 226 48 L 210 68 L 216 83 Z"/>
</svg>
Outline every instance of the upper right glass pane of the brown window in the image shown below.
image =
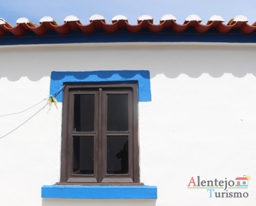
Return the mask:
<svg viewBox="0 0 256 206">
<path fill-rule="evenodd" d="M 128 131 L 128 94 L 108 94 L 107 130 Z"/>
</svg>

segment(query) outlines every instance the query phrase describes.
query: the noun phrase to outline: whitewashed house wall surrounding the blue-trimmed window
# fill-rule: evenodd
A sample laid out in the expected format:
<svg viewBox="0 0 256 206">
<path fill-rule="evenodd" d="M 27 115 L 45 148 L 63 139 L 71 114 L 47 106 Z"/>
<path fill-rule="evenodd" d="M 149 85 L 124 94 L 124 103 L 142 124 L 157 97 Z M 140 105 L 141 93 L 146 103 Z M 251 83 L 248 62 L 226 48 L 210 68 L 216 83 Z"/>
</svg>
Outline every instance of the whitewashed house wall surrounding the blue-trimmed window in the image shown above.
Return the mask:
<svg viewBox="0 0 256 206">
<path fill-rule="evenodd" d="M 253 44 L 1 46 L 0 115 L 46 98 L 52 71 L 148 70 L 152 101 L 139 103 L 140 170 L 158 199 L 41 199 L 41 186 L 59 181 L 61 155 L 62 103 L 44 101 L 0 117 L 0 205 L 254 205 L 255 56 Z M 247 198 L 187 189 L 192 176 L 243 175 L 251 176 Z"/>
</svg>

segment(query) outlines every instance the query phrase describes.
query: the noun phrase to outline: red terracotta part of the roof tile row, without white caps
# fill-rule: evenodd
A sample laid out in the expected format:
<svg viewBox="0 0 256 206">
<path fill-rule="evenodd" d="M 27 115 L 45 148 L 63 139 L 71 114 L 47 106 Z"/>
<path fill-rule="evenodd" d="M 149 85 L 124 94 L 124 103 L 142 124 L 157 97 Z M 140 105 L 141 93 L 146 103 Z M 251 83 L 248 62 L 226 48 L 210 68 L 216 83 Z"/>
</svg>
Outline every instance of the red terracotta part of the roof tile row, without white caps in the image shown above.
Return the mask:
<svg viewBox="0 0 256 206">
<path fill-rule="evenodd" d="M 174 32 L 182 33 L 186 31 L 188 27 L 193 28 L 198 33 L 205 33 L 209 29 L 214 28 L 220 33 L 228 33 L 232 29 L 240 29 L 244 33 L 251 33 L 256 30 L 256 23 L 249 25 L 247 21 L 238 21 L 231 19 L 228 24 L 223 24 L 223 21 L 212 20 L 208 21 L 206 25 L 201 24 L 201 21 L 190 20 L 185 21 L 184 24 L 178 24 L 175 20 L 161 20 L 159 24 L 153 24 L 152 19 L 139 19 L 137 25 L 131 25 L 126 19 L 114 20 L 111 24 L 107 24 L 104 19 L 91 20 L 89 24 L 84 25 L 76 19 L 66 21 L 63 25 L 57 25 L 55 21 L 43 21 L 39 26 L 32 22 L 21 22 L 17 26 L 12 27 L 9 24 L 0 25 L 0 36 L 4 36 L 6 33 L 11 32 L 15 36 L 23 36 L 26 31 L 33 31 L 36 35 L 45 35 L 50 30 L 55 30 L 61 35 L 66 35 L 72 30 L 81 30 L 83 33 L 92 33 L 96 29 L 102 29 L 108 33 L 117 32 L 118 29 L 126 28 L 129 32 L 140 32 L 142 29 L 148 29 L 149 32 L 161 32 L 163 29 L 171 29 Z"/>
</svg>

